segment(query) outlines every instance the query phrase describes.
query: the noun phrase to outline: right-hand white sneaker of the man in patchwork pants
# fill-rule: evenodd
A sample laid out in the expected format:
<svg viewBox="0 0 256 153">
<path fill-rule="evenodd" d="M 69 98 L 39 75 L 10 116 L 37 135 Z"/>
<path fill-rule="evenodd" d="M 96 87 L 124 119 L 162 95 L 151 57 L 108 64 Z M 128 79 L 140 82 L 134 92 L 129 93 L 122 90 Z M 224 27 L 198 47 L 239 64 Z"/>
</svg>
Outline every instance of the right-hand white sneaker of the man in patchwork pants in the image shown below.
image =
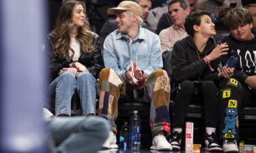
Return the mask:
<svg viewBox="0 0 256 153">
<path fill-rule="evenodd" d="M 172 150 L 171 144 L 167 141 L 164 135 L 156 135 L 152 141 L 152 150 Z"/>
</svg>

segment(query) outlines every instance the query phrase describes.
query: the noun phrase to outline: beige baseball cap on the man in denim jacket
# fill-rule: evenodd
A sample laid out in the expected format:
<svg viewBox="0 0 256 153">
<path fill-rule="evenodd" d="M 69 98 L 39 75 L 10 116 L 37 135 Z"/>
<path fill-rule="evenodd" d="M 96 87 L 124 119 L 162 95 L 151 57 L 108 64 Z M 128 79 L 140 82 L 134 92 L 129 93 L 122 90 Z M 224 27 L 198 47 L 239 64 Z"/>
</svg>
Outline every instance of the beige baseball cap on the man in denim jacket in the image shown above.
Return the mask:
<svg viewBox="0 0 256 153">
<path fill-rule="evenodd" d="M 109 8 L 107 13 L 110 15 L 115 15 L 117 10 L 129 10 L 134 14 L 138 14 L 138 16 L 142 15 L 141 7 L 133 1 L 122 1 L 117 7 Z"/>
</svg>

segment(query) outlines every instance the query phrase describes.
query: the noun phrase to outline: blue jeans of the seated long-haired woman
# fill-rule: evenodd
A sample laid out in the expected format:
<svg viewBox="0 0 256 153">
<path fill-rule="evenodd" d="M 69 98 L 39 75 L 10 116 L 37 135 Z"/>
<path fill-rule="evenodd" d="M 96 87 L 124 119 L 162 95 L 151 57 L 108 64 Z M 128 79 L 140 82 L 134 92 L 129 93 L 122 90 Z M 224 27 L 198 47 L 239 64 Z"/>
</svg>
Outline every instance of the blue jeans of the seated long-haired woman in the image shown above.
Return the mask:
<svg viewBox="0 0 256 153">
<path fill-rule="evenodd" d="M 50 84 L 51 93 L 55 93 L 55 115 L 71 114 L 71 99 L 77 90 L 83 115 L 95 114 L 96 79 L 91 73 L 82 72 L 78 78 L 71 72 L 64 72 Z"/>
</svg>

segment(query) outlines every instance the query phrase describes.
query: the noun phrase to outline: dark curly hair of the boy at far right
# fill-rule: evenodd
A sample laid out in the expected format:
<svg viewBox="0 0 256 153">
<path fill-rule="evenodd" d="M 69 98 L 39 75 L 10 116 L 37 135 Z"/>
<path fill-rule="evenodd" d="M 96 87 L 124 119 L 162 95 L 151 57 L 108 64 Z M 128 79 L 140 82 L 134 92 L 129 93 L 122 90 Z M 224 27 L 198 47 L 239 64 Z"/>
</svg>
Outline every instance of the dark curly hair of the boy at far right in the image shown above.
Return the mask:
<svg viewBox="0 0 256 153">
<path fill-rule="evenodd" d="M 253 22 L 253 16 L 249 10 L 245 8 L 235 8 L 227 12 L 224 17 L 224 22 L 227 27 L 233 29 L 238 26 L 244 26 L 245 24 L 250 24 Z"/>
</svg>

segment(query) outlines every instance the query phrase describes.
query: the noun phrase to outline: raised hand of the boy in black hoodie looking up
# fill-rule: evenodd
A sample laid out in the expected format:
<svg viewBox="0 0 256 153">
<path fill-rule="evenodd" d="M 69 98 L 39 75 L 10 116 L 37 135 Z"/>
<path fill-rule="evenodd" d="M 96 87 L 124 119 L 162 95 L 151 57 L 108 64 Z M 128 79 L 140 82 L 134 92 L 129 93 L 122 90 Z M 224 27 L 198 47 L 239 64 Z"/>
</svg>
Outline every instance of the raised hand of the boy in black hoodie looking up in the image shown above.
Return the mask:
<svg viewBox="0 0 256 153">
<path fill-rule="evenodd" d="M 227 47 L 229 47 L 227 43 L 217 45 L 216 48 L 214 48 L 212 52 L 208 54 L 208 56 L 205 56 L 205 58 L 207 58 L 209 62 L 214 61 L 216 58 L 222 56 L 223 54 L 227 54 L 226 51 L 229 50 Z"/>
</svg>

